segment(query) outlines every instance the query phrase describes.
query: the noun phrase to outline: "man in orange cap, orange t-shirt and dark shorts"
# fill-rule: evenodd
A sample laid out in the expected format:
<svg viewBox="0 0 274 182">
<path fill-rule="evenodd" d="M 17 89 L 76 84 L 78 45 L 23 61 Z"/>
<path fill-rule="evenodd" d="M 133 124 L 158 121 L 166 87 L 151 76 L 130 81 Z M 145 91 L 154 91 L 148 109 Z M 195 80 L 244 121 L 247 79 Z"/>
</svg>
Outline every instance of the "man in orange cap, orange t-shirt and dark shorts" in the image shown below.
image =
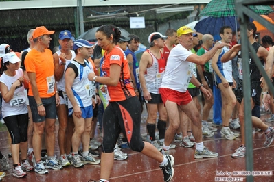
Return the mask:
<svg viewBox="0 0 274 182">
<path fill-rule="evenodd" d="M 49 31 L 44 26 L 36 27 L 32 34 L 34 48 L 25 57 L 25 68 L 30 79 L 28 98 L 34 122 L 34 171 L 38 174 L 48 173 L 45 168 L 62 168 L 54 157 L 56 105 L 59 105 L 60 98 L 54 79 L 54 58 L 52 51 L 48 49 L 52 40 L 49 36 L 51 34 L 54 34 L 54 31 Z M 41 161 L 44 129 L 48 155 L 45 166 L 44 161 Z"/>
</svg>

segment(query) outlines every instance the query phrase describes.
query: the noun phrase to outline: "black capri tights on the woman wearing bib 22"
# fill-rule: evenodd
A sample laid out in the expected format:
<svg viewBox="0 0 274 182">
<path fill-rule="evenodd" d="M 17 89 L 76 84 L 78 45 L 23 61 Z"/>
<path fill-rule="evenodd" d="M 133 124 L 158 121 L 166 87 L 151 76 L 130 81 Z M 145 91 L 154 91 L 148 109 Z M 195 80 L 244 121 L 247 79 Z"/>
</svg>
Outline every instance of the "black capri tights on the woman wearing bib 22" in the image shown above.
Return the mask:
<svg viewBox="0 0 274 182">
<path fill-rule="evenodd" d="M 10 138 L 12 138 L 12 144 L 27 142 L 27 126 L 29 125 L 28 114 L 7 116 L 3 119 L 10 133 Z"/>
</svg>

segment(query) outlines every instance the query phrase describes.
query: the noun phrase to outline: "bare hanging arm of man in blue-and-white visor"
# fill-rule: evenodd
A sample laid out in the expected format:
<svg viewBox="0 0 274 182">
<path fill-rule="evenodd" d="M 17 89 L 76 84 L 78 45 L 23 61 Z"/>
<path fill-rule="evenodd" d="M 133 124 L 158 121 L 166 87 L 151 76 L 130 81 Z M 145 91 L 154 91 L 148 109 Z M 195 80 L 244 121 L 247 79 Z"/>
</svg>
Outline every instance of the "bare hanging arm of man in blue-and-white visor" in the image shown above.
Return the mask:
<svg viewBox="0 0 274 182">
<path fill-rule="evenodd" d="M 71 102 L 72 106 L 73 106 L 73 114 L 78 117 L 81 118 L 82 116 L 82 111 L 80 109 L 80 107 L 78 106 L 73 92 L 72 92 L 72 85 L 74 82 L 76 74 L 74 73 L 72 68 L 67 68 L 66 73 L 65 73 L 65 90 L 67 93 L 67 97 L 69 98 L 69 101 Z"/>
</svg>

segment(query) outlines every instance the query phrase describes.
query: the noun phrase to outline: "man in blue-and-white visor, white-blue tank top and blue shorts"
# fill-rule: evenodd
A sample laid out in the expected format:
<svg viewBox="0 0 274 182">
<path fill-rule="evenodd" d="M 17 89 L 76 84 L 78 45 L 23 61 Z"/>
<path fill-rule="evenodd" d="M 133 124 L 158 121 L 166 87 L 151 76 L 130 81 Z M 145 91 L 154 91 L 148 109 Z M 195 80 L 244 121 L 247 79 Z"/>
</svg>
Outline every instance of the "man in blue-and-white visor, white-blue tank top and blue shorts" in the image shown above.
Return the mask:
<svg viewBox="0 0 274 182">
<path fill-rule="evenodd" d="M 91 131 L 93 105 L 95 106 L 95 100 L 92 99 L 95 95 L 95 89 L 88 79 L 89 73 L 94 72 L 94 70 L 87 61 L 92 47 L 93 44 L 87 40 L 76 40 L 73 44 L 76 57 L 67 66 L 65 73 L 65 91 L 69 98 L 69 117 L 73 118 L 75 125 L 71 142 L 72 162 L 76 168 L 82 167 L 84 164 L 100 163 L 100 160 L 94 159 L 89 153 L 89 133 Z M 78 154 L 80 142 L 82 142 L 83 147 L 82 160 Z"/>
</svg>

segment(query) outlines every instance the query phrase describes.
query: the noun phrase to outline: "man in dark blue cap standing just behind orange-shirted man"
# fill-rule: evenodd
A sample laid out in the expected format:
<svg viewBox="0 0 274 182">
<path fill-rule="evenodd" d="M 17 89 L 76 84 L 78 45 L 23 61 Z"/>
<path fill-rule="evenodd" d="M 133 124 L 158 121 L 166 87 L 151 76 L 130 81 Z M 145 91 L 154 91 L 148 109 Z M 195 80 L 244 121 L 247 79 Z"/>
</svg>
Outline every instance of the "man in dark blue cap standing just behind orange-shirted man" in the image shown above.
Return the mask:
<svg viewBox="0 0 274 182">
<path fill-rule="evenodd" d="M 71 51 L 72 36 L 70 31 L 61 31 L 58 41 L 61 49 L 54 53 L 54 76 L 57 81 L 56 86 L 60 97 L 60 105 L 57 107 L 59 121 L 58 144 L 60 148 L 59 163 L 62 166 L 69 166 L 70 163 L 67 159 L 67 155 L 69 155 L 71 150 L 72 131 L 67 132 L 67 125 L 73 125 L 73 120 L 72 118 L 67 117 L 68 108 L 67 94 L 65 92 L 65 70 L 67 65 L 75 57 L 75 53 L 74 51 Z M 65 142 L 65 140 L 68 142 Z M 65 143 L 67 145 L 65 145 Z M 65 148 L 65 146 L 67 147 Z"/>
</svg>

